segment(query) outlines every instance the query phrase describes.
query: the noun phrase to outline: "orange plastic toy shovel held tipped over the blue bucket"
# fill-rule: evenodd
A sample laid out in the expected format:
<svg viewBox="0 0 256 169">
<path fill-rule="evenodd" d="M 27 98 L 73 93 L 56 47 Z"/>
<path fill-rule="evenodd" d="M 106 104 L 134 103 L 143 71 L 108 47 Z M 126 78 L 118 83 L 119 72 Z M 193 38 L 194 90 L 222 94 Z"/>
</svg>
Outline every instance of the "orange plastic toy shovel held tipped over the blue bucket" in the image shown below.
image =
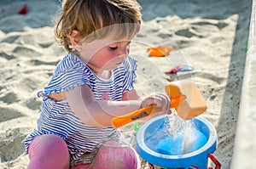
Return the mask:
<svg viewBox="0 0 256 169">
<path fill-rule="evenodd" d="M 207 110 L 207 104 L 202 98 L 195 83 L 191 80 L 180 80 L 167 83 L 166 93 L 171 96 L 171 108 L 174 108 L 177 111 L 177 115 L 184 120 L 192 119 Z M 160 111 L 160 108 L 155 108 L 154 105 L 150 105 L 127 115 L 114 117 L 112 126 L 115 128 L 122 127 L 127 123 L 137 121 L 138 119 Z"/>
</svg>

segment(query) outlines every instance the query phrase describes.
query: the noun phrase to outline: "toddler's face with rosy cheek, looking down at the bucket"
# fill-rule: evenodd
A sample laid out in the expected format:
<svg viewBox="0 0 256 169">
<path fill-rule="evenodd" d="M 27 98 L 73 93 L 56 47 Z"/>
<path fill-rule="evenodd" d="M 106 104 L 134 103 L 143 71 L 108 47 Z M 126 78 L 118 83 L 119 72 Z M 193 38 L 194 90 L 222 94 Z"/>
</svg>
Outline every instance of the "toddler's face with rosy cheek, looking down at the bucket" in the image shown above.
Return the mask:
<svg viewBox="0 0 256 169">
<path fill-rule="evenodd" d="M 113 70 L 123 63 L 130 53 L 130 39 L 119 41 L 105 38 L 89 43 L 83 43 L 80 57 L 91 70 Z"/>
</svg>

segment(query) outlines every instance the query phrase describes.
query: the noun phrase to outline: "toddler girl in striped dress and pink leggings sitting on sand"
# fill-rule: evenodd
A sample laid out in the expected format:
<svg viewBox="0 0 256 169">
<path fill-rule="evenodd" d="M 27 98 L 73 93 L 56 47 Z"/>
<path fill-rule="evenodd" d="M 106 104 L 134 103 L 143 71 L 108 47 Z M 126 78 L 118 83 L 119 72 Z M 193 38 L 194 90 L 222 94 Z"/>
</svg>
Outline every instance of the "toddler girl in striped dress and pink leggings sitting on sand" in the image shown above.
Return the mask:
<svg viewBox="0 0 256 169">
<path fill-rule="evenodd" d="M 136 0 L 63 1 L 55 37 L 68 53 L 38 93 L 38 130 L 25 140 L 29 169 L 140 168 L 113 117 L 150 104 L 170 110 L 166 94 L 140 99 L 133 88 L 137 62 L 128 54 L 140 25 Z"/>
</svg>

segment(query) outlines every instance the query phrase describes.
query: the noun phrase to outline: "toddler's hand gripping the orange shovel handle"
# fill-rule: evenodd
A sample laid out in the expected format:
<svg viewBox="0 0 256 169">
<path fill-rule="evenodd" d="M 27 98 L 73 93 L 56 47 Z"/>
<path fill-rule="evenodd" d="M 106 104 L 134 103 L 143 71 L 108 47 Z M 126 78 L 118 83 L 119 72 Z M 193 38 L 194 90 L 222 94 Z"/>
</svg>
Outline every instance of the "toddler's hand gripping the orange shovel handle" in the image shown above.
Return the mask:
<svg viewBox="0 0 256 169">
<path fill-rule="evenodd" d="M 160 110 L 161 114 L 171 114 L 171 100 L 166 93 L 156 93 L 146 98 L 141 99 L 141 107 L 148 107 L 149 105 L 155 105 L 155 110 Z"/>
</svg>

